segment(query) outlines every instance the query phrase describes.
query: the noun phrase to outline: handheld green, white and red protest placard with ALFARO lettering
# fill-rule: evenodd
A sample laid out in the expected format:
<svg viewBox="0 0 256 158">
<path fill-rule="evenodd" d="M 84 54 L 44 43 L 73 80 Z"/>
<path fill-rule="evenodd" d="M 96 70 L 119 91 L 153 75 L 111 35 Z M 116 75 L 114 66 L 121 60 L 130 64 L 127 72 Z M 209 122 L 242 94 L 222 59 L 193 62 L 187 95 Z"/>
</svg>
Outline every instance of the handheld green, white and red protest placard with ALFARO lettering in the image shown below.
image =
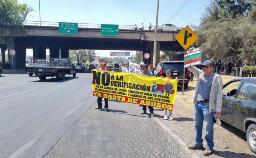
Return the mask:
<svg viewBox="0 0 256 158">
<path fill-rule="evenodd" d="M 184 67 L 200 65 L 202 61 L 201 47 L 191 48 L 184 53 Z"/>
</svg>

